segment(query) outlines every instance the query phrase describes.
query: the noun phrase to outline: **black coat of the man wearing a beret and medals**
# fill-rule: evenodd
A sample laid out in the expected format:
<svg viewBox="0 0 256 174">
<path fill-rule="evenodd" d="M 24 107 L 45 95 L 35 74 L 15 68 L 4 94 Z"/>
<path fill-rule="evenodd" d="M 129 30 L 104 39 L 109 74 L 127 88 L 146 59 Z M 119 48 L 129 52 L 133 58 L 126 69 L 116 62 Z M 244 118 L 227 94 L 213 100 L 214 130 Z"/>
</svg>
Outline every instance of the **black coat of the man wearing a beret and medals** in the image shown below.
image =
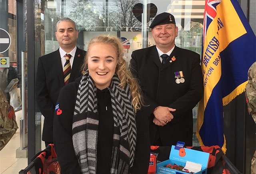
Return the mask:
<svg viewBox="0 0 256 174">
<path fill-rule="evenodd" d="M 175 56 L 176 60 L 170 62 Z M 167 62 L 162 66 L 156 46 L 135 50 L 130 60 L 130 70 L 138 78 L 147 107 L 144 113 L 149 116 L 150 142 L 153 144 L 159 128 L 163 146 L 176 145 L 177 141 L 192 146 L 192 108 L 203 94 L 203 78 L 200 55 L 175 46 Z M 177 84 L 174 72 L 182 71 L 184 83 Z M 156 126 L 152 120 L 154 108 L 168 106 L 175 108 L 174 119 L 166 126 Z"/>
</svg>

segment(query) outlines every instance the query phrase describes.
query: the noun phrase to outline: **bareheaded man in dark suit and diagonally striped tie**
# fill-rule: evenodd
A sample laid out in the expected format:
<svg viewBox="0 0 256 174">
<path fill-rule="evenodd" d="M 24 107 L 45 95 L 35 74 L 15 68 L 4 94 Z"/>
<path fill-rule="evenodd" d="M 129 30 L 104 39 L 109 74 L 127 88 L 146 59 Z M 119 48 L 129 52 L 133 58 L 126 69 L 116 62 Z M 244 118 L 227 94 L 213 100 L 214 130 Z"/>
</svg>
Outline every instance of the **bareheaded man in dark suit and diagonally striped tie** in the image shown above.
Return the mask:
<svg viewBox="0 0 256 174">
<path fill-rule="evenodd" d="M 69 82 L 82 75 L 81 66 L 86 51 L 76 46 L 78 31 L 76 24 L 69 18 L 63 18 L 56 24 L 56 38 L 60 48 L 38 58 L 36 74 L 36 100 L 44 116 L 42 140 L 45 146 L 53 144 L 53 117 L 60 89 L 64 84 L 65 54 L 70 54 L 71 73 Z"/>
</svg>

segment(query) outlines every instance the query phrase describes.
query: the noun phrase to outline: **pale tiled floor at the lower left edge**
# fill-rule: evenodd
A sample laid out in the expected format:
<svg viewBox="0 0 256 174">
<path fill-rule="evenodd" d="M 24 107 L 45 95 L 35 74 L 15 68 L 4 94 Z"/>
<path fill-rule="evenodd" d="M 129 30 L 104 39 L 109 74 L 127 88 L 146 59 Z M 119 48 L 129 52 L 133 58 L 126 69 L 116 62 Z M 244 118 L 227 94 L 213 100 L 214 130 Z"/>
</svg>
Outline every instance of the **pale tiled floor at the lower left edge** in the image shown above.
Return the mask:
<svg viewBox="0 0 256 174">
<path fill-rule="evenodd" d="M 15 115 L 19 125 L 22 110 L 15 112 Z M 18 174 L 21 169 L 28 165 L 28 158 L 16 158 L 16 150 L 18 148 L 20 148 L 20 129 L 16 131 L 12 139 L 0 151 L 0 174 Z"/>
</svg>

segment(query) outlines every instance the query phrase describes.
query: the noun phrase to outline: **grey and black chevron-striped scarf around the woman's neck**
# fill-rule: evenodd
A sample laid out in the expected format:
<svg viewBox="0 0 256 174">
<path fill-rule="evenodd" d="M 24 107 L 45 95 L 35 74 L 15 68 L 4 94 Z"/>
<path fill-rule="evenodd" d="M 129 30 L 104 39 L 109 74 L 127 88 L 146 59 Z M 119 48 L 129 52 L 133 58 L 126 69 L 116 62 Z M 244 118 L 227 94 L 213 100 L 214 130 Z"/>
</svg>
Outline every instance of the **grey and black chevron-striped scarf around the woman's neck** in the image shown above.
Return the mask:
<svg viewBox="0 0 256 174">
<path fill-rule="evenodd" d="M 128 174 L 134 162 L 136 122 L 129 86 L 118 86 L 116 74 L 110 84 L 114 135 L 110 174 Z M 82 77 L 73 117 L 73 145 L 82 174 L 96 173 L 98 110 L 96 86 L 88 71 Z M 100 167 L 100 166 L 99 166 Z M 106 171 L 107 172 L 107 171 Z"/>
</svg>

